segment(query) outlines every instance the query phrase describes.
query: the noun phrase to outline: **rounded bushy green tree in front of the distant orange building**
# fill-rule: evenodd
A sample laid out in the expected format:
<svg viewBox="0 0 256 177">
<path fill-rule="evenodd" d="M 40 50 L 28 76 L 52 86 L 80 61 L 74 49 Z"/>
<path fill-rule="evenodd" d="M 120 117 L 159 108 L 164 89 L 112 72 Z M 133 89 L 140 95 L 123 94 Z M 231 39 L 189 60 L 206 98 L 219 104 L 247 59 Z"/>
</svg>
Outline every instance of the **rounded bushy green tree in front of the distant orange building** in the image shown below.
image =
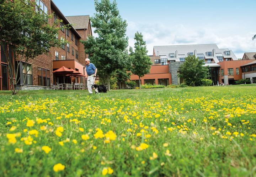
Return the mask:
<svg viewBox="0 0 256 177">
<path fill-rule="evenodd" d="M 199 60 L 196 56 L 188 56 L 185 62 L 180 66 L 179 77 L 183 78 L 187 85 L 195 86 L 202 79 L 207 79 L 209 76 L 209 67 L 205 67 L 204 60 Z"/>
</svg>

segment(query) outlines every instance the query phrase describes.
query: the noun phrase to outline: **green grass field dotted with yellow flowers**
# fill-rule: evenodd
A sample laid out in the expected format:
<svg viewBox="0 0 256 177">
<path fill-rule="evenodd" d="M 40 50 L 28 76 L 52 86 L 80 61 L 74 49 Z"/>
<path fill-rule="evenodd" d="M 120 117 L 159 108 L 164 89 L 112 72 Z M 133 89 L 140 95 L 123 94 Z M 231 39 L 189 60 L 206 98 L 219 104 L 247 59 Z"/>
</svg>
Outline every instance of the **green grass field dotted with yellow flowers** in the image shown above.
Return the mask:
<svg viewBox="0 0 256 177">
<path fill-rule="evenodd" d="M 2 91 L 0 176 L 255 176 L 255 91 Z"/>
</svg>

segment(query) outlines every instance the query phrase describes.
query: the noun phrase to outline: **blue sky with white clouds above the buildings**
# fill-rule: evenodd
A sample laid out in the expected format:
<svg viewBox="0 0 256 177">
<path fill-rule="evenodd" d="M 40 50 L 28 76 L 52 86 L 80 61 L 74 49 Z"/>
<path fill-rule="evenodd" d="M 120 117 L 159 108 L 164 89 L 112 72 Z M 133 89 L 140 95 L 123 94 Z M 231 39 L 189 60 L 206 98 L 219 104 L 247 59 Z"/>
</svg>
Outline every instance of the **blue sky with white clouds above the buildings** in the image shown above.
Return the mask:
<svg viewBox="0 0 256 177">
<path fill-rule="evenodd" d="M 94 0 L 53 2 L 65 16 L 92 17 L 96 13 Z M 129 46 L 134 46 L 134 34 L 138 31 L 144 36 L 148 55 L 153 55 L 153 46 L 188 44 L 217 44 L 232 50 L 237 58 L 242 58 L 244 52 L 256 52 L 256 40 L 252 40 L 256 34 L 256 0 L 116 2 L 128 24 Z"/>
</svg>

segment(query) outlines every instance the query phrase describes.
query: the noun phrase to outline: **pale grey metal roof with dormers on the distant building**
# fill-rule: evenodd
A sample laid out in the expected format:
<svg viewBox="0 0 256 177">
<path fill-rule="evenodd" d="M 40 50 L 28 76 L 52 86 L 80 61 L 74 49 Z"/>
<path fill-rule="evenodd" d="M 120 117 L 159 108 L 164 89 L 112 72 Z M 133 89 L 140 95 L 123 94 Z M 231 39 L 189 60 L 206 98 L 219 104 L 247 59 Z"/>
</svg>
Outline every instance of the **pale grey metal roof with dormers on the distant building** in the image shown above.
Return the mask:
<svg viewBox="0 0 256 177">
<path fill-rule="evenodd" d="M 197 55 L 203 54 L 206 59 L 212 59 L 215 63 L 219 62 L 216 53 L 221 53 L 223 58 L 238 60 L 232 50 L 229 50 L 228 48 L 219 48 L 216 44 L 154 46 L 156 56 L 167 55 L 168 61 L 175 60 L 176 62 L 180 61 L 178 58 L 179 55 L 185 55 L 185 57 L 187 57 L 190 52 L 193 52 L 193 55 L 195 55 L 195 50 Z M 214 50 L 215 55 L 213 55 Z M 226 55 L 225 51 L 230 51 L 230 55 Z M 212 52 L 212 56 L 208 56 L 207 52 Z M 174 53 L 175 57 L 170 58 L 170 53 Z"/>
</svg>

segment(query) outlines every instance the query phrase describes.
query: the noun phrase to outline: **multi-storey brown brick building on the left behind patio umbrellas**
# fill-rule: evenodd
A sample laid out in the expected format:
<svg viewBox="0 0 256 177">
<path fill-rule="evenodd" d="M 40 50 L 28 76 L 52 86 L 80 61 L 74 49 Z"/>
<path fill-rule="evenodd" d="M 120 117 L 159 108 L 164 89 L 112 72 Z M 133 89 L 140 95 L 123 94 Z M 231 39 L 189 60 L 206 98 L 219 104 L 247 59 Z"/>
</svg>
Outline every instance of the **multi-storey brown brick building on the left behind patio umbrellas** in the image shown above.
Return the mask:
<svg viewBox="0 0 256 177">
<path fill-rule="evenodd" d="M 63 22 L 58 26 L 72 24 L 70 29 L 62 29 L 59 31 L 57 38 L 68 40 L 67 45 L 62 47 L 52 47 L 49 53 L 40 55 L 28 62 L 28 67 L 25 68 L 25 63 L 20 65 L 20 73 L 18 76 L 23 75 L 28 70 L 26 82 L 23 83 L 23 77 L 20 78 L 18 85 L 22 85 L 23 89 L 50 89 L 50 85 L 63 82 L 63 77 L 55 76 L 53 71 L 65 66 L 72 68 L 81 74 L 86 75 L 85 72 L 85 55 L 84 46 L 80 40 L 86 40 L 87 36 L 92 35 L 91 23 L 89 16 L 72 16 L 65 17 L 59 8 L 52 0 L 39 0 L 36 3 L 36 11 L 43 11 L 48 15 L 53 14 L 52 19 L 48 19 L 48 23 L 53 25 L 56 19 L 61 19 Z M 2 51 L 2 47 L 1 47 Z M 9 70 L 7 68 L 6 58 L 3 52 L 0 55 L 0 90 L 10 90 L 9 84 Z M 10 53 L 11 55 L 11 53 Z M 69 77 L 65 78 L 66 81 L 71 82 Z M 84 78 L 80 78 L 81 82 Z M 73 78 L 72 81 L 75 81 Z"/>
</svg>

